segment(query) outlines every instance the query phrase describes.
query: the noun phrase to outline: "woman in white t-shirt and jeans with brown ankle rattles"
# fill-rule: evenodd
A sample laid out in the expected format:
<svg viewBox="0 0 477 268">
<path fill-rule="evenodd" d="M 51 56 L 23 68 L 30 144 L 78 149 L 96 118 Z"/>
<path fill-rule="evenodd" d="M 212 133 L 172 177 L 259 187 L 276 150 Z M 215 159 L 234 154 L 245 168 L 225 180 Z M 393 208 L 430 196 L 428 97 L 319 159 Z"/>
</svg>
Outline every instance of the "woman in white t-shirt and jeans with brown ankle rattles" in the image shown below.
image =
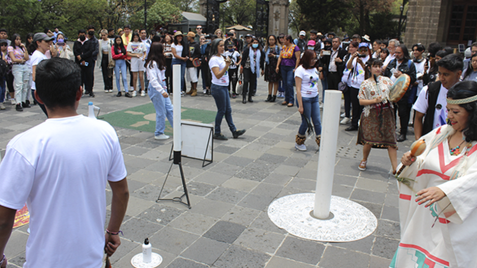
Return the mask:
<svg viewBox="0 0 477 268">
<path fill-rule="evenodd" d="M 310 124 L 315 127 L 315 140 L 319 146 L 321 139 L 321 120 L 319 118 L 318 82 L 319 74 L 316 68 L 317 54 L 313 50 L 306 50 L 300 60 L 300 66 L 295 70 L 295 84 L 297 86 L 298 112 L 302 115 L 302 125 L 298 129 L 295 139 L 295 148 L 306 151 L 306 133 L 313 132 Z M 300 89 L 300 90 L 299 90 Z M 311 121 L 310 121 L 311 119 Z"/>
</svg>

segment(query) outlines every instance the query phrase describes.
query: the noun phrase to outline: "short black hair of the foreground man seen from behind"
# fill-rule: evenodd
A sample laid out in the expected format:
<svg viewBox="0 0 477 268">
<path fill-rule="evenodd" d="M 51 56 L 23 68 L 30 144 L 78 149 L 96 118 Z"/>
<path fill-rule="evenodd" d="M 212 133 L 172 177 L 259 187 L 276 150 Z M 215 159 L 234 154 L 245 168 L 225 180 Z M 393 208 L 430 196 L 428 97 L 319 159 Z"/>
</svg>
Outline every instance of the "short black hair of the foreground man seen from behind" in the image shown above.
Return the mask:
<svg viewBox="0 0 477 268">
<path fill-rule="evenodd" d="M 52 58 L 36 67 L 36 92 L 49 109 L 74 107 L 81 69 L 68 59 Z"/>
</svg>

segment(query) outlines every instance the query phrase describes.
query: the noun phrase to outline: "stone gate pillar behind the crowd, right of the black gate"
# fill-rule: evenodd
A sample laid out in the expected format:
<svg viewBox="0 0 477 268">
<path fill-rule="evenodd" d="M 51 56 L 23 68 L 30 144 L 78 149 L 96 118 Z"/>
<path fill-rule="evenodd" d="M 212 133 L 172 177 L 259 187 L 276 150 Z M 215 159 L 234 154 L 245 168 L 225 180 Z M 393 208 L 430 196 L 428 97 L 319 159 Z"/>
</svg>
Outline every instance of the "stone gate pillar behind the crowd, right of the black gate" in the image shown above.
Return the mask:
<svg viewBox="0 0 477 268">
<path fill-rule="evenodd" d="M 268 3 L 268 34 L 278 36 L 280 33 L 288 34 L 288 0 L 270 0 Z"/>
</svg>

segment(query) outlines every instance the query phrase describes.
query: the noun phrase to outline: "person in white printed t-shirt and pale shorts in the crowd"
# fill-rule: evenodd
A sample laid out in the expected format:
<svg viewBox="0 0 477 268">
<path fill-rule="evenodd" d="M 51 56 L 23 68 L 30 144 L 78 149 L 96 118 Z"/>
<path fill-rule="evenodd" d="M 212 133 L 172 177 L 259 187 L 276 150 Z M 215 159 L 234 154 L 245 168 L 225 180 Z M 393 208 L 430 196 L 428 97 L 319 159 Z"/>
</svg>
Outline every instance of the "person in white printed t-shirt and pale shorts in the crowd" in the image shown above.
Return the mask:
<svg viewBox="0 0 477 268">
<path fill-rule="evenodd" d="M 141 82 L 141 96 L 146 96 L 145 86 L 144 86 L 144 61 L 146 60 L 146 46 L 144 43 L 139 40 L 139 34 L 133 33 L 133 41 L 129 42 L 128 48 L 126 49 L 128 56 L 131 57 L 131 72 L 133 73 L 133 97 L 136 97 L 137 87 L 138 87 L 138 73 L 139 81 Z"/>
</svg>

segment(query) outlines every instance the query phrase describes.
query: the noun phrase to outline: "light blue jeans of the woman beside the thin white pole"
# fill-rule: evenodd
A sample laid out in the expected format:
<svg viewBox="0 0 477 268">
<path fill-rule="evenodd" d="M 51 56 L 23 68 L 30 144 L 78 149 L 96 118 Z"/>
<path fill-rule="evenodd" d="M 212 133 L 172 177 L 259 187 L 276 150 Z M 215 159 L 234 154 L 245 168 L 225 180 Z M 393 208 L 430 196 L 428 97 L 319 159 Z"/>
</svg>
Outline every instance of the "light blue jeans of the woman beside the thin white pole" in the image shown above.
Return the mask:
<svg viewBox="0 0 477 268">
<path fill-rule="evenodd" d="M 156 131 L 154 135 L 159 136 L 160 134 L 164 134 L 165 117 L 169 120 L 170 126 L 172 128 L 174 127 L 172 103 L 169 97 L 164 98 L 153 86 L 148 88 L 148 95 L 156 109 Z"/>
</svg>

